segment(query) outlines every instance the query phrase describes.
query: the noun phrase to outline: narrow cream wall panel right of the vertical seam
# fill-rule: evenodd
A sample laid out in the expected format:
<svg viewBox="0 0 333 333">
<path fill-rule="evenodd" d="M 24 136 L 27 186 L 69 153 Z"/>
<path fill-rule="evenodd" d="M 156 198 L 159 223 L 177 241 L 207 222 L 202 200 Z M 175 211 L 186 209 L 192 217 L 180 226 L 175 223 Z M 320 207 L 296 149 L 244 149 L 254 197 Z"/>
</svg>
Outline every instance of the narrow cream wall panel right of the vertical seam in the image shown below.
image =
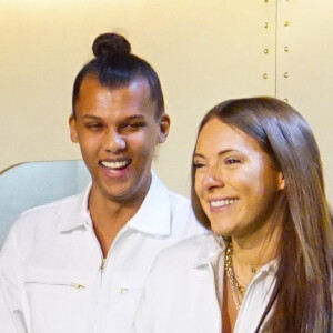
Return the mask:
<svg viewBox="0 0 333 333">
<path fill-rule="evenodd" d="M 281 0 L 278 9 L 276 97 L 310 122 L 333 203 L 333 1 Z"/>
</svg>

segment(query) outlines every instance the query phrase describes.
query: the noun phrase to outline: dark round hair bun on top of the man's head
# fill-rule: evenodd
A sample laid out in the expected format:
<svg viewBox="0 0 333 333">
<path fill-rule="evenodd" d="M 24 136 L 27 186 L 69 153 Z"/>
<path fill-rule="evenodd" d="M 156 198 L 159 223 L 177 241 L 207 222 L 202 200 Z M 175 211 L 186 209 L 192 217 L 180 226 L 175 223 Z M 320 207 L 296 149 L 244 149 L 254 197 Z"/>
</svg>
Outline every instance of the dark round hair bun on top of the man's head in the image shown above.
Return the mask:
<svg viewBox="0 0 333 333">
<path fill-rule="evenodd" d="M 118 33 L 103 33 L 95 38 L 92 44 L 94 57 L 125 56 L 131 53 L 131 44 Z"/>
</svg>

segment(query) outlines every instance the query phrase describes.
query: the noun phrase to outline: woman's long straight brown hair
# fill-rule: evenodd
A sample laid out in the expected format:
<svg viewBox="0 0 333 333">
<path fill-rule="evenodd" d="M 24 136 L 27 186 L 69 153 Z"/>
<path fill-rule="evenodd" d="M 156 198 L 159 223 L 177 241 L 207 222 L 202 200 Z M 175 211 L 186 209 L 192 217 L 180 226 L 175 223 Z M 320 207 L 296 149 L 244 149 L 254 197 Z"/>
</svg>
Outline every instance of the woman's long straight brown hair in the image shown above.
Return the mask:
<svg viewBox="0 0 333 333">
<path fill-rule="evenodd" d="M 279 200 L 282 236 L 276 282 L 256 332 L 263 327 L 271 333 L 333 332 L 333 219 L 310 125 L 292 107 L 273 98 L 220 103 L 204 117 L 199 133 L 212 118 L 254 138 L 285 180 Z M 198 220 L 210 229 L 194 179 L 192 167 L 192 205 Z"/>
</svg>

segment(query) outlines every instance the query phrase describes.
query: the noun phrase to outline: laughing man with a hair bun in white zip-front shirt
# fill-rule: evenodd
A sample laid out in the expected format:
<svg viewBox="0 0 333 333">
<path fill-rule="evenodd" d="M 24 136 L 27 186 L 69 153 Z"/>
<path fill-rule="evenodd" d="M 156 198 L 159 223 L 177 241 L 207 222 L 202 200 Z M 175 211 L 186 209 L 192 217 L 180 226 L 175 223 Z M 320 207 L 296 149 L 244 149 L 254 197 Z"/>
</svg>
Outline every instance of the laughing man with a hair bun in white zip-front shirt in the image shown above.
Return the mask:
<svg viewBox="0 0 333 333">
<path fill-rule="evenodd" d="M 170 119 L 157 73 L 121 36 L 93 43 L 73 87 L 71 140 L 92 183 L 32 209 L 0 255 L 0 332 L 127 332 L 164 248 L 203 230 L 189 201 L 151 173 Z"/>
</svg>

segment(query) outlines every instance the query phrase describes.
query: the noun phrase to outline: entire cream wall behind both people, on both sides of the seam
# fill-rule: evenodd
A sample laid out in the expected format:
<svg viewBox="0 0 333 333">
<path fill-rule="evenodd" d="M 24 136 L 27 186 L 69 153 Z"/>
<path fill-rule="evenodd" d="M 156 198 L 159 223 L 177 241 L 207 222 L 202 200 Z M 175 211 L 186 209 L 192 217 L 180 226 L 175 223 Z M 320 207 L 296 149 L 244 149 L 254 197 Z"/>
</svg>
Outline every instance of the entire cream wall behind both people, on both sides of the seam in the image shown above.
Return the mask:
<svg viewBox="0 0 333 333">
<path fill-rule="evenodd" d="M 189 194 L 202 115 L 266 94 L 312 124 L 333 202 L 332 18 L 331 0 L 0 0 L 0 170 L 80 158 L 67 129 L 72 81 L 93 39 L 117 31 L 160 75 L 172 129 L 154 169 L 172 189 Z"/>
</svg>

